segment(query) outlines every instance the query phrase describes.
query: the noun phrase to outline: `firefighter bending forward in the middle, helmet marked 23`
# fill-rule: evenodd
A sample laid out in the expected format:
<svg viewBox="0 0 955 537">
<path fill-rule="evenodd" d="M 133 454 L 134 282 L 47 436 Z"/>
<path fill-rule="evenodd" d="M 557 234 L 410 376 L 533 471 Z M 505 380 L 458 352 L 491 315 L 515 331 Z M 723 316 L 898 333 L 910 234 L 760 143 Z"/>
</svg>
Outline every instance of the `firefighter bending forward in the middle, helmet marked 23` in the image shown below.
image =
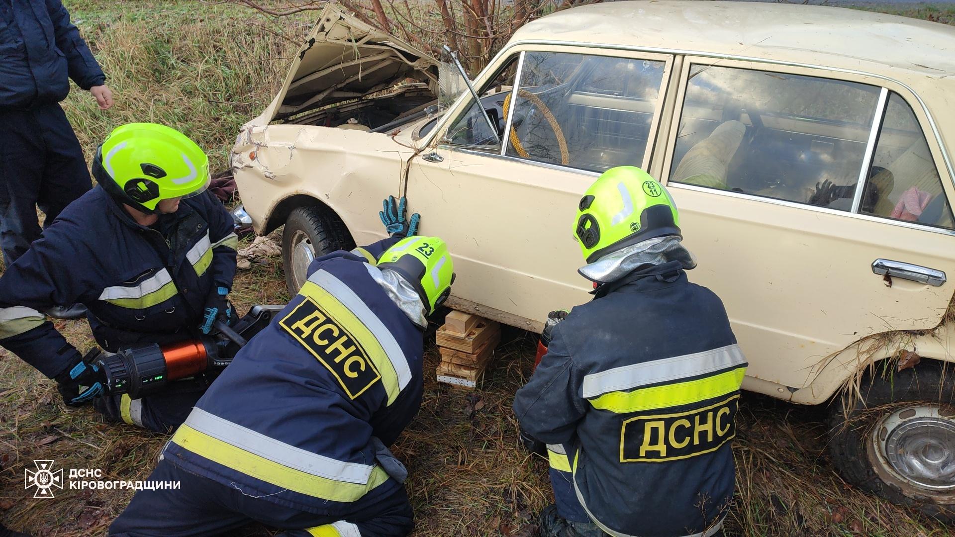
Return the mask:
<svg viewBox="0 0 955 537">
<path fill-rule="evenodd" d="M 180 488 L 138 492 L 111 534 L 212 535 L 251 521 L 288 536 L 411 530 L 407 471 L 388 446 L 421 403 L 425 315 L 450 293 L 454 266 L 440 239 L 401 227 L 312 262 L 166 444 L 148 481 Z"/>
</svg>

